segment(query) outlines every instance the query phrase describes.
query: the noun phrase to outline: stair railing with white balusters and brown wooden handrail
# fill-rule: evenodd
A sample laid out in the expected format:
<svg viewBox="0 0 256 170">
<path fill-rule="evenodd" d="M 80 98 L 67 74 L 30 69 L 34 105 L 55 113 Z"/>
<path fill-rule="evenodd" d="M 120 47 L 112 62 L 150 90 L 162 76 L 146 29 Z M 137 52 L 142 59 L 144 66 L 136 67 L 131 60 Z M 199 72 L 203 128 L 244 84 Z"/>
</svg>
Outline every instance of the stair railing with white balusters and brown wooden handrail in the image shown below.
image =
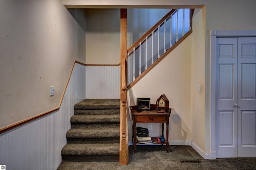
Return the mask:
<svg viewBox="0 0 256 170">
<path fill-rule="evenodd" d="M 172 9 L 127 50 L 127 85 L 191 30 L 192 9 Z"/>
</svg>

